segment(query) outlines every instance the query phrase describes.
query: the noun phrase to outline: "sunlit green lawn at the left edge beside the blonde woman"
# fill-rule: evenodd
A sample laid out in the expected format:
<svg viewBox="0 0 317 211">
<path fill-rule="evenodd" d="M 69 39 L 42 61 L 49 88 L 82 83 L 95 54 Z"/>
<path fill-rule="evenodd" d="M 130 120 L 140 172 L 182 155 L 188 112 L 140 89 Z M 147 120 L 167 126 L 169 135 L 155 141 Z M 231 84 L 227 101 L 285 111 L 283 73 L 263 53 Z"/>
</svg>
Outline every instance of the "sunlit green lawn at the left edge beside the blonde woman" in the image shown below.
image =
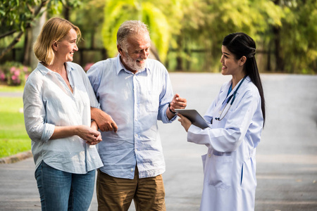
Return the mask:
<svg viewBox="0 0 317 211">
<path fill-rule="evenodd" d="M 0 158 L 30 149 L 31 141 L 25 131 L 22 98 L 0 97 Z"/>
</svg>

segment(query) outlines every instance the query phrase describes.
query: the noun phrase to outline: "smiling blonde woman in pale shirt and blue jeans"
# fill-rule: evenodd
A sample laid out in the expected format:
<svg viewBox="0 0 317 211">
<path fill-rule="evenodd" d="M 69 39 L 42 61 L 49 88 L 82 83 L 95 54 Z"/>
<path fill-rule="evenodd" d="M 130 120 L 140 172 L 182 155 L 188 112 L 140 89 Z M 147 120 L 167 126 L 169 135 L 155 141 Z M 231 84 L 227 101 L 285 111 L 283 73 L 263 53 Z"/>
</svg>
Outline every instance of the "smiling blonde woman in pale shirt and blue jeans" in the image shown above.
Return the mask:
<svg viewBox="0 0 317 211">
<path fill-rule="evenodd" d="M 37 68 L 23 93 L 25 128 L 32 140 L 42 210 L 88 210 L 101 141 L 90 107 L 99 108 L 85 71 L 72 63 L 78 27 L 51 18 L 35 42 Z"/>
</svg>

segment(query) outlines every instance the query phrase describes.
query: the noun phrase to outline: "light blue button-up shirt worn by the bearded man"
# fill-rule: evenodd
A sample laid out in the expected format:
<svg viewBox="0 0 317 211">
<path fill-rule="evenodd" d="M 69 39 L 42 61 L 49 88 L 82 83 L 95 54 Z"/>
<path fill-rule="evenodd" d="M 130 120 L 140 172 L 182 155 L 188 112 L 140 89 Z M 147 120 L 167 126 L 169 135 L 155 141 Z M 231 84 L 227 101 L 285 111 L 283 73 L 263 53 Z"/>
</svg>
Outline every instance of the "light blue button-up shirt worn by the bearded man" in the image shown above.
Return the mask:
<svg viewBox="0 0 317 211">
<path fill-rule="evenodd" d="M 118 125 L 117 133 L 101 132 L 101 171 L 133 179 L 137 165 L 139 178 L 155 177 L 165 172 L 157 120 L 175 120 L 166 116 L 173 99 L 168 71 L 159 61 L 147 59 L 145 70 L 133 74 L 119 56 L 102 60 L 87 72 L 101 109 Z"/>
</svg>

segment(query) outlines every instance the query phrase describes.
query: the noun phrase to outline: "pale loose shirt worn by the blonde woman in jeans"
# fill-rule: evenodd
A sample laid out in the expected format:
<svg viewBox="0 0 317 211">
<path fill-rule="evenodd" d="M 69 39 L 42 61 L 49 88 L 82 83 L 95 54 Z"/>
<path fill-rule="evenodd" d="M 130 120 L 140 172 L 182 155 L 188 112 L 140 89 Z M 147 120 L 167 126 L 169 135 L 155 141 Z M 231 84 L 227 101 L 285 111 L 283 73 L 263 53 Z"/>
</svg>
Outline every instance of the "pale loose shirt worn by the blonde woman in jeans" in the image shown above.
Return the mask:
<svg viewBox="0 0 317 211">
<path fill-rule="evenodd" d="M 36 168 L 44 160 L 57 170 L 85 174 L 102 166 L 96 146 L 79 136 L 50 140 L 55 126 L 87 125 L 90 106 L 99 108 L 89 79 L 80 65 L 66 63 L 73 93 L 61 75 L 39 63 L 23 92 L 25 129 L 32 140 Z"/>
</svg>

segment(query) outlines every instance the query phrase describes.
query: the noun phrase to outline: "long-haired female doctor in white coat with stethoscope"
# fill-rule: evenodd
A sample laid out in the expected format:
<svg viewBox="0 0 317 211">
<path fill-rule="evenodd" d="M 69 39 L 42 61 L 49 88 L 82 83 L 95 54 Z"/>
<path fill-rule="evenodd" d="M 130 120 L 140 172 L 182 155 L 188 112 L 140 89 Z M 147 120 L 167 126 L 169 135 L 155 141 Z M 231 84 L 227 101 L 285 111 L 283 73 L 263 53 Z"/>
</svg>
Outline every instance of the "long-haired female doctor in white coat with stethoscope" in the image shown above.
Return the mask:
<svg viewBox="0 0 317 211">
<path fill-rule="evenodd" d="M 204 189 L 200 210 L 254 210 L 256 147 L 265 121 L 265 101 L 254 58 L 256 44 L 244 33 L 223 39 L 221 73 L 232 75 L 220 89 L 200 129 L 178 114 L 187 141 L 204 144 Z"/>
</svg>

